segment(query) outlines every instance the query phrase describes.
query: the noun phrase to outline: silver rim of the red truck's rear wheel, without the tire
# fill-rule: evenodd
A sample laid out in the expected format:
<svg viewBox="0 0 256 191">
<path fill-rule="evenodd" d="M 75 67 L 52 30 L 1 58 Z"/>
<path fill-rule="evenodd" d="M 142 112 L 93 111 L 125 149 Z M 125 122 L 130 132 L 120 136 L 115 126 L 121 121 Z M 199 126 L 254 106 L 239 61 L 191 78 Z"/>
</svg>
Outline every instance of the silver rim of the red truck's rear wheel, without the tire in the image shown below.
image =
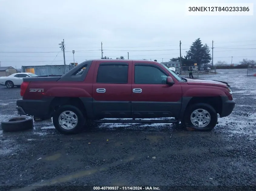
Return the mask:
<svg viewBox="0 0 256 191">
<path fill-rule="evenodd" d="M 74 129 L 77 126 L 78 118 L 73 111 L 63 111 L 59 115 L 59 124 L 64 129 Z"/>
</svg>

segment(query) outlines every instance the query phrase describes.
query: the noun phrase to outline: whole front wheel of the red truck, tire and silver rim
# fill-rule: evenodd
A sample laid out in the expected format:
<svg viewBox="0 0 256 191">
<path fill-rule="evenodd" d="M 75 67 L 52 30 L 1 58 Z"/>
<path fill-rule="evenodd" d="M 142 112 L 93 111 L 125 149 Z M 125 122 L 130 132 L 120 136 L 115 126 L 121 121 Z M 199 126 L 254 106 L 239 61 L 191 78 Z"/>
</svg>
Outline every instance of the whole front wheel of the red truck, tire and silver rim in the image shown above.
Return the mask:
<svg viewBox="0 0 256 191">
<path fill-rule="evenodd" d="M 218 123 L 218 115 L 209 104 L 196 103 L 188 107 L 184 120 L 188 127 L 209 131 Z"/>
</svg>

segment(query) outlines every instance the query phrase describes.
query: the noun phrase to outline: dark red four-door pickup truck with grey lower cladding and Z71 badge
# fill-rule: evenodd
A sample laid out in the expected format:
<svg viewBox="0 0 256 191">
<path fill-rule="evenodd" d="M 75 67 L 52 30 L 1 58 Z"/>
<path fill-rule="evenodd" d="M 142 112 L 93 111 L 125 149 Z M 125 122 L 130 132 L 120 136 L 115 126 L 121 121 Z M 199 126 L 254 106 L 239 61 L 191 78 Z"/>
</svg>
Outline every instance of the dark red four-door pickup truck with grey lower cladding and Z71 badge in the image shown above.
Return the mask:
<svg viewBox="0 0 256 191">
<path fill-rule="evenodd" d="M 145 60 L 88 60 L 62 76 L 23 78 L 21 96 L 18 114 L 53 117 L 63 134 L 78 133 L 92 121 L 181 122 L 211 130 L 217 114 L 228 116 L 235 106 L 228 83 L 180 78 L 165 65 Z"/>
</svg>

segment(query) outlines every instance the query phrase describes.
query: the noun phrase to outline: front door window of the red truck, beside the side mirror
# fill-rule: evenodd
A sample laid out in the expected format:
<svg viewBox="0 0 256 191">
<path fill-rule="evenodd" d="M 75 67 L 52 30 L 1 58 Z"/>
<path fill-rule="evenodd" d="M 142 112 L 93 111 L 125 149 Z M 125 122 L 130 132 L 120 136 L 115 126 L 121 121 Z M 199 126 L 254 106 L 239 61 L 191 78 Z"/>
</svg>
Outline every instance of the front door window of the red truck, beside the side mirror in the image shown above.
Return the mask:
<svg viewBox="0 0 256 191">
<path fill-rule="evenodd" d="M 153 66 L 135 65 L 135 84 L 166 84 L 167 75 Z"/>
</svg>

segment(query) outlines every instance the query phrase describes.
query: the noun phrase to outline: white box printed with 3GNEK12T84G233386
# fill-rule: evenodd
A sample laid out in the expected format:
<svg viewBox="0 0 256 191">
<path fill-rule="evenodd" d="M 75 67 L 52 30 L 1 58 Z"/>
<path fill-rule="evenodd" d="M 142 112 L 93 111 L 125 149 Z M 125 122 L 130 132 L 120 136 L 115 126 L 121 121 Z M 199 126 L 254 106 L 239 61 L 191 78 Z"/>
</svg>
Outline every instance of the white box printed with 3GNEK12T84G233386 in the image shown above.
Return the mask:
<svg viewBox="0 0 256 191">
<path fill-rule="evenodd" d="M 253 15 L 253 3 L 197 3 L 186 4 L 187 15 Z"/>
</svg>

